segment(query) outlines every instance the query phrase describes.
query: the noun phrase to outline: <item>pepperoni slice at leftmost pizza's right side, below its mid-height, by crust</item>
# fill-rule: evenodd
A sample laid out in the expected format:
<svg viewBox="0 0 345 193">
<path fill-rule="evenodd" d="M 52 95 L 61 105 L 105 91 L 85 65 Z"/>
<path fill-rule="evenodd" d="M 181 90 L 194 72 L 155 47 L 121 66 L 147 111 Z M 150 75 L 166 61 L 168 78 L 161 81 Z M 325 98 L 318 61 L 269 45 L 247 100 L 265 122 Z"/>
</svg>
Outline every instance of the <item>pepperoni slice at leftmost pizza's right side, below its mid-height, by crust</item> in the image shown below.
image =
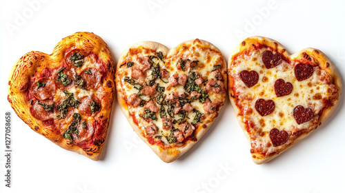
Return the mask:
<svg viewBox="0 0 345 193">
<path fill-rule="evenodd" d="M 96 96 L 85 96 L 80 100 L 78 110 L 83 116 L 95 115 L 101 110 L 101 102 Z"/>
</svg>

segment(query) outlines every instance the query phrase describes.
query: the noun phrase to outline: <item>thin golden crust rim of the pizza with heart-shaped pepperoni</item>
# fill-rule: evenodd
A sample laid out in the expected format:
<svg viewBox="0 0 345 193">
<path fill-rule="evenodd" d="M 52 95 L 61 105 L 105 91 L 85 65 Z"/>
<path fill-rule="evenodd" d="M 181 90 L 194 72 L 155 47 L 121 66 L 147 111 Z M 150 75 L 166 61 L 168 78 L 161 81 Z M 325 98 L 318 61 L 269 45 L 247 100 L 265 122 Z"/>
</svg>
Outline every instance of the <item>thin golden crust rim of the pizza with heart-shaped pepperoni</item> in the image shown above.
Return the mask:
<svg viewBox="0 0 345 193">
<path fill-rule="evenodd" d="M 230 68 L 231 64 L 233 63 L 233 61 L 235 60 L 235 58 L 237 57 L 238 54 L 241 54 L 244 50 L 247 50 L 247 49 L 255 49 L 255 46 L 253 46 L 253 45 L 257 45 L 257 44 L 261 44 L 261 45 L 264 45 L 266 47 L 273 48 L 273 50 L 275 50 L 275 52 L 278 52 L 279 54 L 281 54 L 282 57 L 288 61 L 303 61 L 304 59 L 306 59 L 308 57 L 312 57 L 314 59 L 315 63 L 319 63 L 319 67 L 322 68 L 322 70 L 326 70 L 326 72 L 328 72 L 328 74 L 331 74 L 331 77 L 333 77 L 333 82 L 337 86 L 338 95 L 337 95 L 337 99 L 335 99 L 333 105 L 330 108 L 327 108 L 326 110 L 324 110 L 324 112 L 320 116 L 319 122 L 317 124 L 321 125 L 322 123 L 324 123 L 324 121 L 326 121 L 326 119 L 328 119 L 328 117 L 331 116 L 331 114 L 337 108 L 337 105 L 339 104 L 339 101 L 340 101 L 340 96 L 342 94 L 342 80 L 341 80 L 341 78 L 337 72 L 337 69 L 335 68 L 335 65 L 333 65 L 333 63 L 331 63 L 331 61 L 328 59 L 328 57 L 322 51 L 317 50 L 315 48 L 306 48 L 304 50 L 300 50 L 299 52 L 296 52 L 295 54 L 290 55 L 286 51 L 286 49 L 283 47 L 282 44 L 280 44 L 279 42 L 277 42 L 273 39 L 269 39 L 266 37 L 249 37 L 249 38 L 245 39 L 244 41 L 242 41 L 242 43 L 237 45 L 237 47 L 233 50 L 232 54 L 230 55 L 230 57 L 228 59 L 228 69 Z M 250 48 L 250 47 L 254 47 L 254 48 Z M 230 75 L 228 74 L 228 76 L 230 76 Z M 228 93 L 230 96 L 230 102 L 233 105 L 233 108 L 235 110 L 235 114 L 237 116 L 237 121 L 239 122 L 239 125 L 241 126 L 242 130 L 244 131 L 244 134 L 248 140 L 248 143 L 250 143 L 250 136 L 249 136 L 248 132 L 246 131 L 246 124 L 243 123 L 242 116 L 239 116 L 240 110 L 235 103 L 235 98 L 232 97 L 232 96 L 234 96 L 233 90 L 230 89 L 232 86 L 233 86 L 233 80 L 229 79 L 229 81 L 228 81 L 228 88 L 229 88 Z M 290 148 L 291 146 L 293 146 L 298 141 L 301 141 L 302 139 L 304 139 L 304 137 L 311 134 L 311 132 L 313 132 L 313 130 L 310 130 L 308 132 L 304 132 L 303 134 L 297 136 L 297 138 L 295 138 L 293 140 L 293 142 L 290 143 L 289 145 L 287 145 L 284 148 L 284 150 L 282 150 L 281 152 L 278 152 L 275 154 L 270 154 L 268 156 L 263 156 L 262 154 L 259 154 L 259 153 L 253 153 L 252 159 L 256 164 L 262 164 L 262 163 L 265 163 L 267 161 L 270 161 L 270 160 L 274 159 L 276 156 L 278 156 L 279 154 L 281 154 L 282 152 L 284 152 L 285 150 L 287 150 L 288 148 Z"/>
</svg>

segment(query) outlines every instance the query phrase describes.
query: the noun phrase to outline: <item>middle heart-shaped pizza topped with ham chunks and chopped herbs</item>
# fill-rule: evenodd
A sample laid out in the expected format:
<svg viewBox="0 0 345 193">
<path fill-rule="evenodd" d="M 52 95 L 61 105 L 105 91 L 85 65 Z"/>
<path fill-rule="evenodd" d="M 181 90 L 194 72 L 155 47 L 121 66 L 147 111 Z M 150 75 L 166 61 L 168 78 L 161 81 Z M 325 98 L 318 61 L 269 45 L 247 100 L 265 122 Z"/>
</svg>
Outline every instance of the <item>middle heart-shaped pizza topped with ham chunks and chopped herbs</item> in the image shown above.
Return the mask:
<svg viewBox="0 0 345 193">
<path fill-rule="evenodd" d="M 226 96 L 226 61 L 195 39 L 169 50 L 131 45 L 117 63 L 117 99 L 132 128 L 165 162 L 187 152 L 215 121 Z"/>
</svg>

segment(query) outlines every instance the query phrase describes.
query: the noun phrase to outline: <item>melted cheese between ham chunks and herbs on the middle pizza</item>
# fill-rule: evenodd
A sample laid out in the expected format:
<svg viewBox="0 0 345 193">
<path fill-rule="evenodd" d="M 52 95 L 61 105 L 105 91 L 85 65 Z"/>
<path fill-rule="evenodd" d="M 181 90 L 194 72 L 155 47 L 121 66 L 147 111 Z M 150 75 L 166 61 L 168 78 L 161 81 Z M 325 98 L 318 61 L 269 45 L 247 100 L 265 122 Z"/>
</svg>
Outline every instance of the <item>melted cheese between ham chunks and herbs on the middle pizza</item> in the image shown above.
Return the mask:
<svg viewBox="0 0 345 193">
<path fill-rule="evenodd" d="M 197 53 L 197 54 L 195 54 Z M 176 54 L 176 53 L 175 53 Z M 144 56 L 154 56 L 155 52 L 141 52 L 138 53 L 136 55 L 129 55 L 126 58 L 126 61 L 132 61 L 134 62 L 136 65 L 136 63 L 139 64 L 139 61 L 137 60 L 138 57 L 144 57 Z M 152 59 L 152 61 L 154 63 L 159 63 L 160 68 L 162 68 L 163 66 L 165 66 L 165 69 L 170 73 L 170 77 L 173 74 L 182 74 L 185 73 L 188 75 L 188 72 L 183 72 L 181 70 L 178 70 L 176 67 L 177 62 L 179 61 L 180 58 L 186 60 L 186 59 L 192 59 L 193 57 L 196 57 L 196 55 L 198 55 L 197 59 L 198 59 L 198 65 L 197 65 L 197 70 L 190 70 L 190 72 L 192 71 L 197 71 L 199 72 L 199 74 L 201 75 L 201 77 L 204 77 L 204 79 L 210 79 L 213 77 L 210 77 L 210 72 L 213 70 L 213 66 L 214 65 L 219 65 L 221 64 L 222 66 L 226 65 L 226 63 L 222 63 L 223 62 L 223 57 L 221 56 L 220 52 L 211 52 L 210 50 L 208 50 L 208 52 L 205 51 L 201 51 L 201 46 L 193 46 L 190 45 L 189 50 L 186 50 L 185 52 L 179 52 L 177 53 L 175 56 L 167 56 L 164 61 L 166 63 L 164 63 L 163 61 L 161 61 L 160 59 Z M 133 66 L 134 66 L 133 65 Z M 200 65 L 203 65 L 204 68 L 199 68 Z M 119 68 L 117 74 L 121 74 L 121 85 L 123 85 L 123 89 L 124 90 L 124 95 L 126 97 L 130 96 L 131 94 L 137 94 L 138 90 L 136 88 L 134 88 L 133 85 L 130 85 L 130 83 L 127 83 L 124 81 L 124 77 L 132 77 L 131 74 L 132 70 L 131 68 L 126 68 L 126 66 Z M 148 83 L 152 76 L 151 76 L 152 70 L 147 70 L 145 72 L 146 78 L 145 78 L 145 83 Z M 189 77 L 189 76 L 188 76 Z M 168 82 L 168 78 L 164 79 L 164 81 Z M 156 79 L 155 83 L 158 83 L 159 86 L 164 87 L 165 91 L 164 94 L 166 96 L 168 96 L 170 93 L 172 92 L 177 92 L 178 94 L 183 94 L 185 92 L 184 90 L 184 85 L 176 85 L 175 87 L 168 87 L 168 83 L 164 83 L 164 81 L 161 81 L 161 79 Z M 138 83 L 138 81 L 136 81 L 136 83 Z M 226 84 L 225 84 L 226 85 Z M 167 88 L 170 88 L 169 90 Z M 204 88 L 204 86 L 201 86 L 201 89 Z M 219 92 L 219 94 L 215 94 L 213 92 L 208 92 L 209 94 L 209 99 L 211 101 L 213 101 L 213 99 L 217 98 L 220 101 L 224 101 L 225 99 L 225 92 Z M 150 97 L 146 96 L 146 95 L 141 95 L 140 96 L 142 100 L 146 100 L 149 101 Z M 155 103 L 157 105 L 157 107 L 160 109 L 161 105 L 158 105 L 157 103 Z M 203 108 L 203 104 L 199 102 L 199 100 L 195 100 L 192 103 L 190 103 L 193 108 L 195 108 L 196 110 L 199 110 L 199 112 L 201 112 L 202 114 L 208 114 L 208 112 L 206 112 Z M 167 110 L 166 105 L 164 105 L 165 110 Z M 183 107 L 181 107 L 183 108 Z M 137 106 L 137 108 L 133 108 L 132 106 L 128 107 L 128 110 L 130 111 L 130 114 L 134 115 L 135 118 L 138 120 L 138 125 L 139 128 L 141 128 L 142 132 L 145 134 L 145 128 L 150 125 L 150 123 L 147 123 L 146 121 L 144 121 L 144 119 L 141 118 L 140 114 L 144 114 L 144 108 L 141 108 L 140 106 Z M 169 144 L 168 141 L 166 140 L 165 136 L 169 136 L 170 135 L 170 130 L 164 130 L 162 128 L 163 123 L 162 123 L 162 119 L 161 116 L 159 115 L 159 112 L 155 113 L 157 116 L 157 120 L 152 121 L 152 123 L 154 123 L 157 128 L 158 128 L 158 132 L 157 134 L 155 134 L 155 136 L 161 136 L 161 141 L 166 145 L 175 145 L 175 144 Z M 194 117 L 195 117 L 195 112 L 190 112 L 187 116 L 188 116 L 188 122 L 192 123 Z M 215 114 L 215 113 L 214 113 Z M 181 117 L 179 117 L 178 114 L 175 114 L 175 118 L 174 120 L 178 120 Z M 201 123 L 204 123 L 206 121 L 208 121 L 209 119 L 214 119 L 214 116 L 210 116 L 210 114 L 206 115 L 206 119 L 202 120 Z M 213 120 L 212 120 L 213 121 Z M 201 123 L 198 123 L 198 125 L 202 125 Z M 179 125 L 178 124 L 174 124 L 173 128 L 175 129 L 179 129 Z M 178 144 L 177 144 L 178 145 Z"/>
</svg>

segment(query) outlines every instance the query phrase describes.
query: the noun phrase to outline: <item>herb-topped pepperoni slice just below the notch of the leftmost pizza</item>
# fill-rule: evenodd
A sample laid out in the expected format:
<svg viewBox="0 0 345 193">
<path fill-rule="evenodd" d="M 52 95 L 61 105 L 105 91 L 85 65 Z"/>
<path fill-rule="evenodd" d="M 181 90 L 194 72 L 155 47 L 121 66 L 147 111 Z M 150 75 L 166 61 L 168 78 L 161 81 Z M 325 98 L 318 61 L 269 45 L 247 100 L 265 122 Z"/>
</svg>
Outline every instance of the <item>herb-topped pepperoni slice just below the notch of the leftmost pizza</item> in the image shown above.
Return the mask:
<svg viewBox="0 0 345 193">
<path fill-rule="evenodd" d="M 71 68 L 61 67 L 55 71 L 54 83 L 60 90 L 66 90 L 74 84 L 73 77 L 74 73 Z"/>
</svg>

